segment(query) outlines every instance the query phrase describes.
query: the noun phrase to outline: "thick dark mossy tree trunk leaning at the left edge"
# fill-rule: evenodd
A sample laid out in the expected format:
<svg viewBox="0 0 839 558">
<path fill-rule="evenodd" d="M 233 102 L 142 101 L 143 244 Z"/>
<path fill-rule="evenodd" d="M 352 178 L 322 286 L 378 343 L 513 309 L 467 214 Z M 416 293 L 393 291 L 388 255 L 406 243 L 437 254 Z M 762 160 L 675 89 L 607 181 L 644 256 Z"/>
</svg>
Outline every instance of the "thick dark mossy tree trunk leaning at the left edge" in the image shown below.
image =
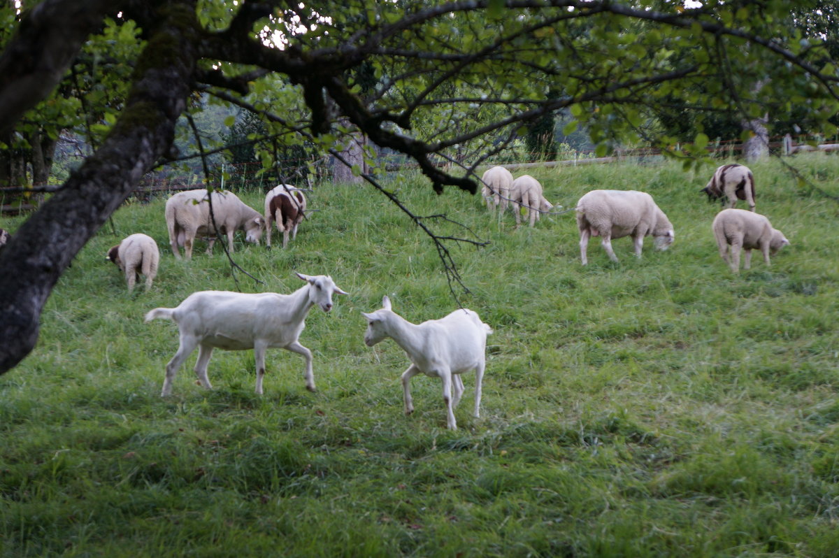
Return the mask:
<svg viewBox="0 0 839 558">
<path fill-rule="evenodd" d="M 145 26 L 148 43 L 111 133 L 0 252 L 0 373 L 32 351 L 44 304 L 72 258 L 169 154 L 195 72 L 198 24 L 194 0 L 171 1 L 165 13 Z"/>
</svg>

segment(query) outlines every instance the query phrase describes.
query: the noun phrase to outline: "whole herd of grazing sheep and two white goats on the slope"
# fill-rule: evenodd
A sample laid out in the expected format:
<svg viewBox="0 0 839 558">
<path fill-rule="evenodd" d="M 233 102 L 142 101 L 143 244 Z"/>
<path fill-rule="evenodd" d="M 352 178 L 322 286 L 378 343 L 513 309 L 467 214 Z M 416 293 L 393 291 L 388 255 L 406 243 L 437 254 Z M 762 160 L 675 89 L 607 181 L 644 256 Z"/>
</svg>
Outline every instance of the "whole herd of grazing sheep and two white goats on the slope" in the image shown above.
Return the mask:
<svg viewBox="0 0 839 558">
<path fill-rule="evenodd" d="M 532 176 L 513 179 L 507 169 L 496 166 L 482 176 L 482 195 L 487 208 L 503 212 L 513 209 L 516 224 L 520 225 L 521 208 L 529 211 L 530 226 L 539 214 L 553 207 L 545 200 L 542 186 Z M 710 199 L 726 197 L 728 208 L 720 211 L 711 226 L 722 259 L 737 273 L 740 252 L 745 250 L 745 269 L 748 269 L 751 250 L 760 249 L 765 263 L 769 254 L 789 244 L 765 216 L 754 212 L 754 179 L 752 172 L 741 164 L 719 167 L 708 185 L 702 190 Z M 734 209 L 737 200 L 748 202 L 751 211 Z M 283 232 L 283 247 L 289 235 L 297 235 L 297 227 L 305 218 L 306 199 L 303 192 L 289 185 L 279 185 L 265 197 L 264 213 L 244 204 L 232 192 L 188 190 L 171 196 L 166 201 L 166 226 L 169 246 L 175 258 L 189 259 L 195 238 L 205 237 L 208 253 L 212 250 L 216 234 L 227 236 L 227 249 L 233 252 L 233 232 L 244 230 L 248 242 L 258 243 L 263 231 L 268 233 L 266 243 L 271 246 L 272 222 Z M 590 237 L 602 237 L 602 245 L 612 261 L 618 261 L 612 250 L 612 238 L 633 237 L 635 255 L 640 258 L 644 237 L 652 236 L 656 248 L 666 249 L 673 242 L 675 232 L 670 220 L 655 204 L 652 196 L 635 190 L 592 190 L 577 201 L 577 227 L 580 231 L 581 261 L 586 265 L 586 248 Z M 215 223 L 215 226 L 214 226 Z M 8 233 L 0 229 L 0 247 L 8 240 Z M 125 274 L 129 291 L 140 274 L 146 277 L 148 289 L 157 274 L 159 251 L 153 238 L 133 234 L 125 238 L 107 254 Z M 175 321 L 179 330 L 179 347 L 166 365 L 166 376 L 161 394 L 171 394 L 175 373 L 198 348 L 195 375 L 199 383 L 211 389 L 207 378 L 207 365 L 213 349 L 228 351 L 253 349 L 256 361 L 256 393 L 263 393 L 265 352 L 268 348 L 284 348 L 305 358 L 306 388 L 315 390 L 312 372 L 312 354 L 300 344 L 300 333 L 305 327 L 309 310 L 317 305 L 329 312 L 333 295 L 347 295 L 328 275 L 297 276 L 305 285 L 290 295 L 278 293 L 246 294 L 229 291 L 206 290 L 193 293 L 175 308 L 150 310 L 145 321 L 156 318 Z M 382 308 L 362 315 L 367 320 L 364 342 L 368 347 L 385 338 L 391 338 L 402 347 L 411 365 L 402 374 L 404 410 L 414 410 L 409 383 L 416 374 L 425 373 L 440 378 L 446 404 L 448 428 L 457 428 L 454 407 L 463 394 L 462 373 L 476 373 L 474 416 L 479 416 L 481 386 L 486 366 L 487 335 L 492 329 L 483 323 L 477 313 L 460 309 L 439 320 L 413 324 L 396 314 L 387 296 Z"/>
</svg>

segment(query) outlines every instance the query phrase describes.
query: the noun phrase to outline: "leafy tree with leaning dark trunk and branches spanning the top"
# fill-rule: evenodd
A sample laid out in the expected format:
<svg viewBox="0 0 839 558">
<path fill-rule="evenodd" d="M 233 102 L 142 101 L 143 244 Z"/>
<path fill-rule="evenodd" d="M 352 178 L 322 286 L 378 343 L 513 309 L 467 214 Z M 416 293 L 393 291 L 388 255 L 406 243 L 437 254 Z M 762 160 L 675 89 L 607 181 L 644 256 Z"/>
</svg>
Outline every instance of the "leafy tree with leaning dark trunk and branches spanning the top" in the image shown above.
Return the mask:
<svg viewBox="0 0 839 558">
<path fill-rule="evenodd" d="M 560 110 L 573 118 L 564 133 L 586 129 L 600 154 L 644 141 L 690 164 L 723 113 L 769 114 L 771 127 L 795 112 L 802 128 L 834 132 L 825 4 L 43 0 L 17 13 L 7 3 L 3 150 L 68 127 L 95 149 L 0 253 L 0 373 L 32 350 L 60 274 L 142 175 L 190 155 L 173 146 L 183 116 L 200 110 L 195 96 L 257 114 L 274 145 L 335 152 L 362 133 L 414 159 L 438 192 L 474 193 L 477 165 Z M 680 149 L 656 119 L 672 107 L 694 123 Z"/>
</svg>

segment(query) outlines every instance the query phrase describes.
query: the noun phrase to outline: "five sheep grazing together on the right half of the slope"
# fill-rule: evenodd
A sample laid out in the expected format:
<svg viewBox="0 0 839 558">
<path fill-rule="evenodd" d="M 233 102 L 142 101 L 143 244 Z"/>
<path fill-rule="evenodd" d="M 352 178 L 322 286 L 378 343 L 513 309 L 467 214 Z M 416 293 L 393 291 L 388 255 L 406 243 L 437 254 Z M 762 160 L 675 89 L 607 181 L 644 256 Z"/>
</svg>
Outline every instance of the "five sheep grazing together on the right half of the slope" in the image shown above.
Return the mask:
<svg viewBox="0 0 839 558">
<path fill-rule="evenodd" d="M 509 206 L 519 226 L 521 208 L 529 211 L 530 226 L 539 218 L 539 213 L 553 207 L 543 196 L 539 181 L 530 175 L 513 179 L 508 169 L 496 166 L 482 176 L 482 196 L 487 208 L 494 211 L 500 206 L 505 211 Z M 727 198 L 728 208 L 717 214 L 711 230 L 717 240 L 720 256 L 734 273 L 740 269 L 740 253 L 745 251 L 744 268 L 749 269 L 752 250 L 763 253 L 763 261 L 769 265 L 769 254 L 776 253 L 789 244 L 789 240 L 772 227 L 763 215 L 754 212 L 754 176 L 742 164 L 723 164 L 719 167 L 705 188 L 709 199 Z M 749 211 L 734 209 L 737 200 L 745 200 Z M 603 249 L 613 262 L 618 257 L 612 250 L 612 238 L 632 237 L 635 255 L 641 257 L 644 237 L 652 236 L 655 248 L 666 250 L 673 243 L 675 231 L 653 197 L 636 190 L 591 190 L 577 201 L 575 206 L 577 228 L 580 230 L 580 259 L 588 263 L 586 250 L 591 237 L 602 237 Z"/>
</svg>

